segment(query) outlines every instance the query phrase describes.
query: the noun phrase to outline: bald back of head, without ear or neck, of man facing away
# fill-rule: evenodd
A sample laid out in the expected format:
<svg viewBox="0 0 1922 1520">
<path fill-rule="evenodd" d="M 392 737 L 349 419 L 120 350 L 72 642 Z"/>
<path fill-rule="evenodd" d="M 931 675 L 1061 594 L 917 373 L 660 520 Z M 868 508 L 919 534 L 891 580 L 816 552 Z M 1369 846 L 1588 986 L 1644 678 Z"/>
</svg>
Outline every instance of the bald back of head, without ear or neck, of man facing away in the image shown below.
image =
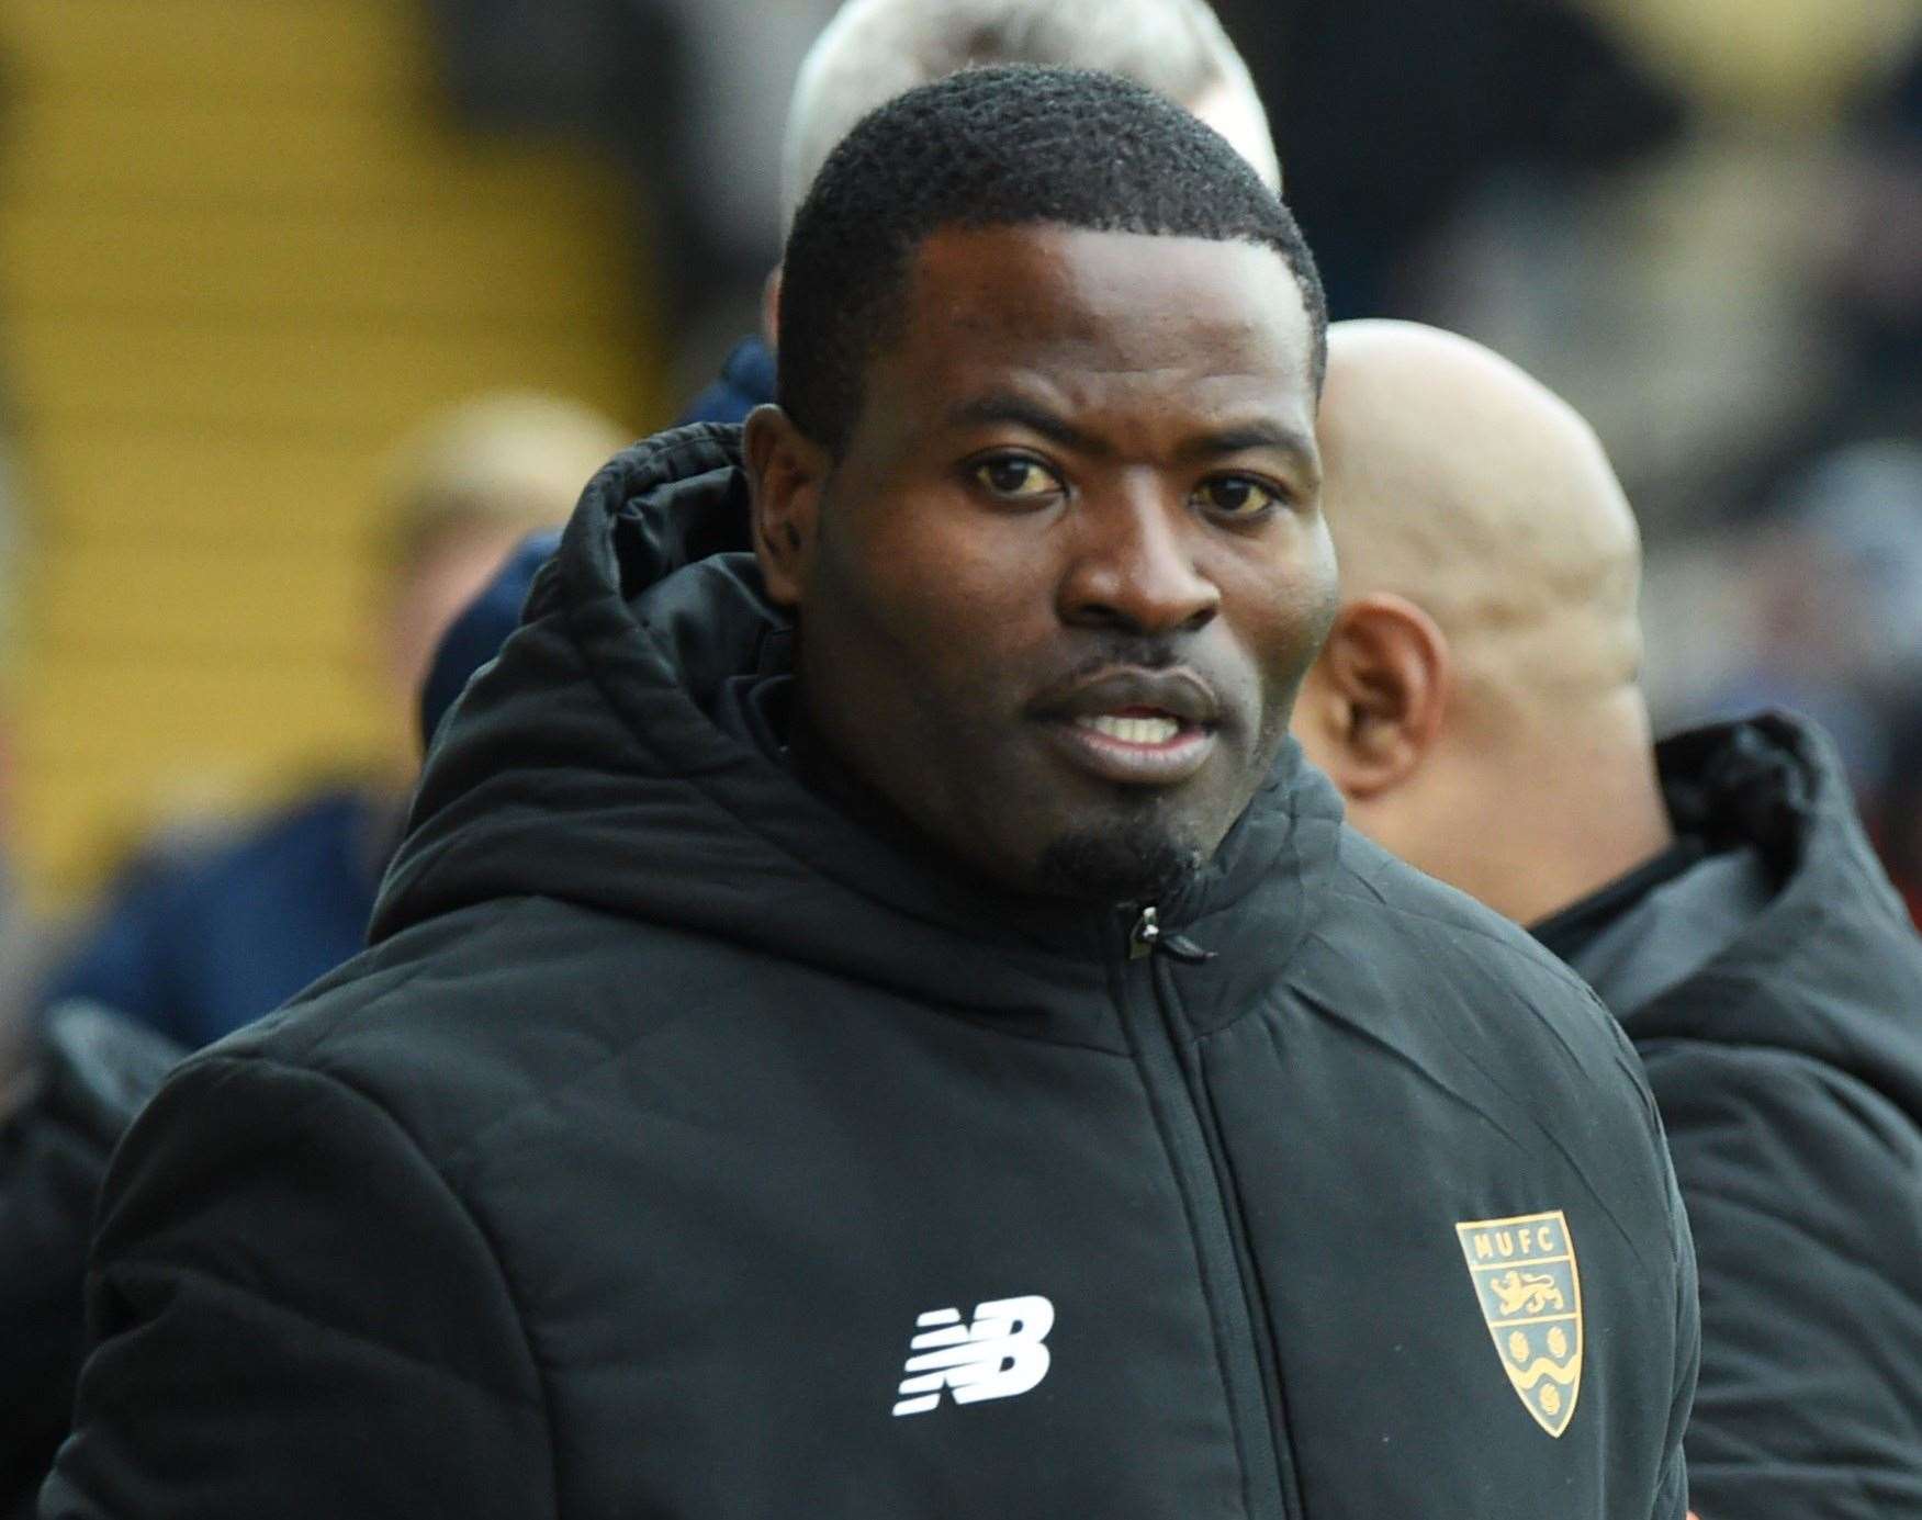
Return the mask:
<svg viewBox="0 0 1922 1520">
<path fill-rule="evenodd" d="M 1547 386 L 1453 332 L 1338 323 L 1318 432 L 1343 596 L 1395 592 L 1434 617 L 1463 699 L 1634 682 L 1636 519 Z"/>
</svg>

